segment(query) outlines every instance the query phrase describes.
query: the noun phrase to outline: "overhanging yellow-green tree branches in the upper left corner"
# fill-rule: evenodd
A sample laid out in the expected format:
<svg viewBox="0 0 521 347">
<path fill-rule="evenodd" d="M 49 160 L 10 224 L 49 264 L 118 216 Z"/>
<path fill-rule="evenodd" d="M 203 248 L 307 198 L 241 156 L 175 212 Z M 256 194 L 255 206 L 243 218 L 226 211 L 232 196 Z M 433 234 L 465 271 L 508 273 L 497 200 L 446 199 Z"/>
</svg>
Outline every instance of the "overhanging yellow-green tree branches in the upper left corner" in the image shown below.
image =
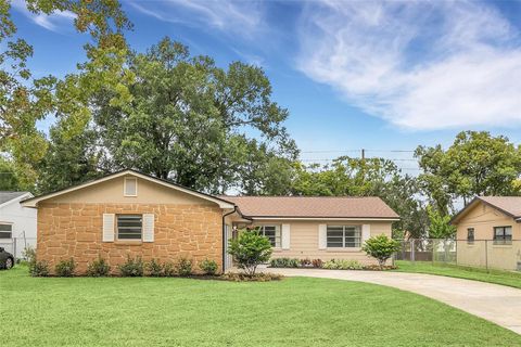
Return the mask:
<svg viewBox="0 0 521 347">
<path fill-rule="evenodd" d="M 14 166 L 17 189 L 34 185 L 36 167 L 47 152 L 47 139 L 36 123 L 50 114 L 66 115 L 71 124 L 88 121 L 85 98 L 104 81 L 117 83 L 113 77 L 126 51 L 122 30 L 130 26 L 116 0 L 26 0 L 25 4 L 35 14 L 72 13 L 77 31 L 90 34 L 91 41 L 86 44 L 89 62 L 81 66 L 80 78 L 34 78 L 27 67 L 33 48 L 16 36 L 11 1 L 0 0 L 0 156 Z M 125 88 L 119 86 L 119 91 L 126 97 Z"/>
</svg>

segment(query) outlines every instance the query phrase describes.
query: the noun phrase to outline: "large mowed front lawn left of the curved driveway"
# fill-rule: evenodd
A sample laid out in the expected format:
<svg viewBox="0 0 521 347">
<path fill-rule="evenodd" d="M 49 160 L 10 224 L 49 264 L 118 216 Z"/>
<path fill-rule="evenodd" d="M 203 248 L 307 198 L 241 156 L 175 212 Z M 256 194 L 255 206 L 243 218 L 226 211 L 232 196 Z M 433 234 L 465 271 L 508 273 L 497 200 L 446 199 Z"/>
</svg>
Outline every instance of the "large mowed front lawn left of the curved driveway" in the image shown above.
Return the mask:
<svg viewBox="0 0 521 347">
<path fill-rule="evenodd" d="M 429 298 L 291 278 L 29 278 L 0 271 L 2 346 L 521 346 L 521 336 Z"/>
</svg>

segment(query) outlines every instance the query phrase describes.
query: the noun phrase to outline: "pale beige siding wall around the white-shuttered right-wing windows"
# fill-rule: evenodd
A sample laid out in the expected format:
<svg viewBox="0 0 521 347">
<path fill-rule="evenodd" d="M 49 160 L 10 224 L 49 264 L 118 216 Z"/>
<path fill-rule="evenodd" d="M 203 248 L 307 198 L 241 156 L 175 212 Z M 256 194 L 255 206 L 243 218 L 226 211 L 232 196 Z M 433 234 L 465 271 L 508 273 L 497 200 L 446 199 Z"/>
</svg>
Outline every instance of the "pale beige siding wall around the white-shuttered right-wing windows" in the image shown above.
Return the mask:
<svg viewBox="0 0 521 347">
<path fill-rule="evenodd" d="M 290 224 L 291 241 L 290 249 L 274 249 L 274 258 L 290 257 L 290 258 L 309 258 L 309 259 L 353 259 L 363 264 L 373 264 L 374 260 L 368 257 L 360 248 L 345 248 L 345 249 L 318 249 L 318 226 L 319 224 L 370 224 L 371 236 L 379 234 L 386 234 L 391 236 L 390 221 L 295 221 L 295 220 L 272 220 L 254 222 L 254 226 L 259 224 Z"/>
</svg>

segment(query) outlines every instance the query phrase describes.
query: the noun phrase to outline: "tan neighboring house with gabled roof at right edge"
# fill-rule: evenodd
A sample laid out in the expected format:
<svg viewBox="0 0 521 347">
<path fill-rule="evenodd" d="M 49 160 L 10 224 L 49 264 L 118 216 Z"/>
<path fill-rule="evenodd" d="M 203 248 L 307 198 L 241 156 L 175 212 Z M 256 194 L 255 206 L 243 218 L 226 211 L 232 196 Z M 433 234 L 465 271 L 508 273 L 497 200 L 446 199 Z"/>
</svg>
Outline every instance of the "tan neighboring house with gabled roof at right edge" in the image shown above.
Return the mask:
<svg viewBox="0 0 521 347">
<path fill-rule="evenodd" d="M 521 270 L 521 196 L 478 196 L 452 219 L 460 265 Z"/>
</svg>

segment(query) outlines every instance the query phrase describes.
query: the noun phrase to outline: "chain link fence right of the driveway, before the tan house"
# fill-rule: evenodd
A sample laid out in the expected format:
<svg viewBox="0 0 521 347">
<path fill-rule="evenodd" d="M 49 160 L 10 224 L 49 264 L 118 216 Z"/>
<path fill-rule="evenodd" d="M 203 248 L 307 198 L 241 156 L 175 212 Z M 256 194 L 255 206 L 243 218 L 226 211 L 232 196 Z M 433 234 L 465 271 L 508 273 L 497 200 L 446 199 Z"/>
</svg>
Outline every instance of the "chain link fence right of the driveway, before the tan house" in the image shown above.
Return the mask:
<svg viewBox="0 0 521 347">
<path fill-rule="evenodd" d="M 404 240 L 395 260 L 521 271 L 521 240 Z"/>
</svg>

